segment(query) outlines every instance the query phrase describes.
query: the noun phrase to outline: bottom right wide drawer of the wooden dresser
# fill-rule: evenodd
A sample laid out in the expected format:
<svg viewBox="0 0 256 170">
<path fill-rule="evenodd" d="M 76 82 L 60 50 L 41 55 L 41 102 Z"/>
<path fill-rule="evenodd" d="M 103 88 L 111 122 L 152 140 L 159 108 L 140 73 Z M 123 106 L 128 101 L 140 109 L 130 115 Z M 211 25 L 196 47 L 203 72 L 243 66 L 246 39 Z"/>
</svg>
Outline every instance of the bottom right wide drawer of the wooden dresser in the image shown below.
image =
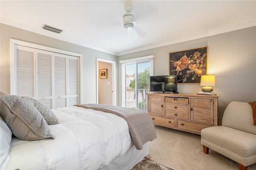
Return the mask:
<svg viewBox="0 0 256 170">
<path fill-rule="evenodd" d="M 177 128 L 178 129 L 185 129 L 188 131 L 194 131 L 198 134 L 201 133 L 201 130 L 206 127 L 211 127 L 211 124 L 204 124 L 204 123 L 197 123 L 192 121 L 185 121 L 185 120 L 177 120 Z"/>
</svg>

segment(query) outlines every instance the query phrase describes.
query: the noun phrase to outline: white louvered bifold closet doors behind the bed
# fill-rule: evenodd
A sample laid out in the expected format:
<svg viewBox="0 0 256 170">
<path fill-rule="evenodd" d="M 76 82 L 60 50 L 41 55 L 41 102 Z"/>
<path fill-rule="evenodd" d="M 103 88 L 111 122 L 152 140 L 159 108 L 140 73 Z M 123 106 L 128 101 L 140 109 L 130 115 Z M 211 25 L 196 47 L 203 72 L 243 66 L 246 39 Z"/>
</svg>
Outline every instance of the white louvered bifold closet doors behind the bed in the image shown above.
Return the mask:
<svg viewBox="0 0 256 170">
<path fill-rule="evenodd" d="M 80 104 L 80 56 L 44 48 L 50 47 L 13 43 L 11 94 L 34 98 L 50 109 Z"/>
</svg>

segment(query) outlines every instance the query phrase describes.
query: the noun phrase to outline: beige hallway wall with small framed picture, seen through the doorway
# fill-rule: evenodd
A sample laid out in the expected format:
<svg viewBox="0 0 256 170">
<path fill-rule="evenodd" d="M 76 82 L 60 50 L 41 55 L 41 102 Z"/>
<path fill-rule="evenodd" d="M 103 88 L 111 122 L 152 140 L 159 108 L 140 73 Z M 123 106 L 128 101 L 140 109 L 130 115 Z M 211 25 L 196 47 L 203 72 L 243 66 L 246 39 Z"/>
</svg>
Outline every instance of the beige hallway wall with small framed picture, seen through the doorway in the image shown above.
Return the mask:
<svg viewBox="0 0 256 170">
<path fill-rule="evenodd" d="M 98 77 L 98 103 L 112 105 L 112 63 L 99 61 L 98 69 L 108 69 L 107 78 Z"/>
</svg>

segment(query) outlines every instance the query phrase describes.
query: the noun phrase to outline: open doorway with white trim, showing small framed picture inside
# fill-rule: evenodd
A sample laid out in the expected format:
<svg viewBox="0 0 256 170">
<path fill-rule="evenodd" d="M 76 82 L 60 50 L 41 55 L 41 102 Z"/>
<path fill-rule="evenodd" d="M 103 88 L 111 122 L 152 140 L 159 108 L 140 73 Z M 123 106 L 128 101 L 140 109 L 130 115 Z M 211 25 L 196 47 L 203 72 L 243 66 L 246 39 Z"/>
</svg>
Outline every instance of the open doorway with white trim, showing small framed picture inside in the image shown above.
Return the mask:
<svg viewBox="0 0 256 170">
<path fill-rule="evenodd" d="M 96 58 L 97 103 L 116 106 L 116 62 Z M 100 70 L 106 75 L 100 78 Z"/>
</svg>

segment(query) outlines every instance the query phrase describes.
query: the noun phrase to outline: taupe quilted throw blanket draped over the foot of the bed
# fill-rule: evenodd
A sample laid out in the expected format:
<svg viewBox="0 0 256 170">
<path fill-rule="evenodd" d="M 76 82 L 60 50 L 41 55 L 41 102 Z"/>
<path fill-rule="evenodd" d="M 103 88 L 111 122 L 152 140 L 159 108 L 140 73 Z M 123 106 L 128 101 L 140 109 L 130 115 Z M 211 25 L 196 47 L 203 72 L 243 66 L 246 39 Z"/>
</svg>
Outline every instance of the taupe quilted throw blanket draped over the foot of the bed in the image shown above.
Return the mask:
<svg viewBox="0 0 256 170">
<path fill-rule="evenodd" d="M 124 118 L 129 127 L 132 143 L 137 150 L 143 149 L 143 145 L 148 141 L 156 139 L 153 121 L 150 115 L 145 111 L 106 104 L 82 104 L 74 106 L 109 112 Z"/>
</svg>

